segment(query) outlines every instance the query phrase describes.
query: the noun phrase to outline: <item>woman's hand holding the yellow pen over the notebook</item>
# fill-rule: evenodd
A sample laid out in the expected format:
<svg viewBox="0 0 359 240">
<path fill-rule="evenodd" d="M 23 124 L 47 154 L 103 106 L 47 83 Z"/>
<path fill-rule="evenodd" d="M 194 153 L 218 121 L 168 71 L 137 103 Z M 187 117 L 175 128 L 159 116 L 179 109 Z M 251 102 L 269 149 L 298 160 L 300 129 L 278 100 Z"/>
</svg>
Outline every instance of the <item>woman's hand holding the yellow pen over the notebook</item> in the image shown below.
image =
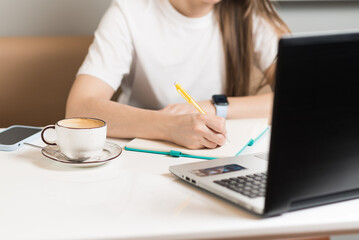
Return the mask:
<svg viewBox="0 0 359 240">
<path fill-rule="evenodd" d="M 226 120 L 212 114 L 174 115 L 168 137 L 189 149 L 216 148 L 226 142 Z"/>
</svg>

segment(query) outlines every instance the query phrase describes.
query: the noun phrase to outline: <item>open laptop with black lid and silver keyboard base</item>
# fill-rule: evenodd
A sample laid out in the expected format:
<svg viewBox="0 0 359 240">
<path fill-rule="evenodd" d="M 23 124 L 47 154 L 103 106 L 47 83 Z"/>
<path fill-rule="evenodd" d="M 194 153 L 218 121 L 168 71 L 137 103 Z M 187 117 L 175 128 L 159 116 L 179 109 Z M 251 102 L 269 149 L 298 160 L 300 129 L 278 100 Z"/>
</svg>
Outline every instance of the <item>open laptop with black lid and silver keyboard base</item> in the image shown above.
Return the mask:
<svg viewBox="0 0 359 240">
<path fill-rule="evenodd" d="M 359 197 L 359 33 L 279 41 L 268 153 L 170 166 L 263 217 Z"/>
</svg>

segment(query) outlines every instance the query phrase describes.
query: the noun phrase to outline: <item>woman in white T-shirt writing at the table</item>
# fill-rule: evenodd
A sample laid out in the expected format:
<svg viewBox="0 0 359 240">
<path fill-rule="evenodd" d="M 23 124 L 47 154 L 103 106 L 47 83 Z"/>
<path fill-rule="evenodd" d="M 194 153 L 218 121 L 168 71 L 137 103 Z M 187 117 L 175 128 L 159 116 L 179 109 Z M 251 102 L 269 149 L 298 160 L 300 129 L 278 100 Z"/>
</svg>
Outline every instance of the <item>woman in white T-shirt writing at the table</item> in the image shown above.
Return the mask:
<svg viewBox="0 0 359 240">
<path fill-rule="evenodd" d="M 277 43 L 286 32 L 270 0 L 116 0 L 78 72 L 66 115 L 104 119 L 111 137 L 190 149 L 223 145 L 225 118 L 270 116 Z M 185 103 L 174 82 L 207 114 Z M 118 88 L 118 102 L 111 101 Z M 228 106 L 212 103 L 218 94 Z"/>
</svg>

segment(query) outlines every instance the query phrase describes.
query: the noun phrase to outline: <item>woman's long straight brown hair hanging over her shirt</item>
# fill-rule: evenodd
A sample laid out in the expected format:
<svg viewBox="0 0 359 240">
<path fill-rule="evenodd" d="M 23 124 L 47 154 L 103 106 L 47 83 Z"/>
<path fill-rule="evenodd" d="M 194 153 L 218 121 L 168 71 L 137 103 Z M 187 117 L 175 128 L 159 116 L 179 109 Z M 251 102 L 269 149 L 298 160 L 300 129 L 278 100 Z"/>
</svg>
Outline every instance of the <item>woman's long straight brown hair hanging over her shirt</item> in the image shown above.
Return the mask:
<svg viewBox="0 0 359 240">
<path fill-rule="evenodd" d="M 222 33 L 227 96 L 249 94 L 254 62 L 253 16 L 266 20 L 278 33 L 289 32 L 270 0 L 222 0 L 215 6 Z M 270 81 L 267 79 L 267 81 Z"/>
</svg>

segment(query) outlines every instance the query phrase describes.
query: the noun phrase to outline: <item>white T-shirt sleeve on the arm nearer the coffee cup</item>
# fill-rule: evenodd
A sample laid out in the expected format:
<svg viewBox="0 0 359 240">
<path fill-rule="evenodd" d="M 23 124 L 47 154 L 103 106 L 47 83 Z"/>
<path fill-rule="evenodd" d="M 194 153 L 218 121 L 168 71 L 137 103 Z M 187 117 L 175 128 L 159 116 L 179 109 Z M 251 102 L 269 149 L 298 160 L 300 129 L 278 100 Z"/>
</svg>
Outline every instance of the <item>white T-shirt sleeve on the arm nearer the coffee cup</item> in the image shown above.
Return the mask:
<svg viewBox="0 0 359 240">
<path fill-rule="evenodd" d="M 89 52 L 77 75 L 94 76 L 115 91 L 130 72 L 133 42 L 121 1 L 114 1 L 103 16 Z"/>
</svg>

